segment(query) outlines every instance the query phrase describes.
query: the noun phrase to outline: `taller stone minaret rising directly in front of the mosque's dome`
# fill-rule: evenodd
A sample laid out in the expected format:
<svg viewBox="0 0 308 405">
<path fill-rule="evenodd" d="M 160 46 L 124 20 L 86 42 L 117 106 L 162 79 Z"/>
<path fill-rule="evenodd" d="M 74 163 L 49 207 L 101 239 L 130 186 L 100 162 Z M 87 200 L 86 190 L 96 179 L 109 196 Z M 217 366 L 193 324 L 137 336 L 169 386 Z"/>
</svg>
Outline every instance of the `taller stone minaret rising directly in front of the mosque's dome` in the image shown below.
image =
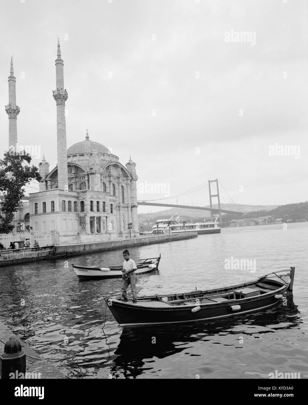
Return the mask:
<svg viewBox="0 0 308 405">
<path fill-rule="evenodd" d="M 63 60 L 61 59 L 60 42 L 58 40 L 58 58 L 56 59 L 57 90 L 53 91 L 53 98 L 57 104 L 57 142 L 58 142 L 58 189 L 68 190 L 67 153 L 66 153 L 66 125 L 65 102 L 68 98 L 64 89 Z"/>
</svg>

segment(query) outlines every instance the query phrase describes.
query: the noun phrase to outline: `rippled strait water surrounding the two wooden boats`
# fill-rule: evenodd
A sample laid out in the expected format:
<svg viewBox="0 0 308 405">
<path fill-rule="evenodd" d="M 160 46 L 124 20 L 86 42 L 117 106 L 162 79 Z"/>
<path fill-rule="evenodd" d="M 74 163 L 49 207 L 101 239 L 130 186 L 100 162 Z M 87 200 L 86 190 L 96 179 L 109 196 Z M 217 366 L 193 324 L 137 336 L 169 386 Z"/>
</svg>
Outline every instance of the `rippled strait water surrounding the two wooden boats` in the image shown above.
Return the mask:
<svg viewBox="0 0 308 405">
<path fill-rule="evenodd" d="M 137 277 L 139 295 L 234 285 L 295 266 L 288 305 L 225 321 L 122 330 L 104 294 L 120 279 L 78 281 L 71 263 L 122 263 L 122 249 L 0 268 L 0 318 L 43 358 L 77 378 L 308 378 L 308 223 L 226 228 L 221 234 L 130 249 L 131 257 L 162 255 L 159 272 Z M 225 270 L 225 259 L 255 259 L 256 271 Z M 128 295 L 130 290 L 128 289 Z M 2 347 L 2 346 L 1 346 Z"/>
</svg>

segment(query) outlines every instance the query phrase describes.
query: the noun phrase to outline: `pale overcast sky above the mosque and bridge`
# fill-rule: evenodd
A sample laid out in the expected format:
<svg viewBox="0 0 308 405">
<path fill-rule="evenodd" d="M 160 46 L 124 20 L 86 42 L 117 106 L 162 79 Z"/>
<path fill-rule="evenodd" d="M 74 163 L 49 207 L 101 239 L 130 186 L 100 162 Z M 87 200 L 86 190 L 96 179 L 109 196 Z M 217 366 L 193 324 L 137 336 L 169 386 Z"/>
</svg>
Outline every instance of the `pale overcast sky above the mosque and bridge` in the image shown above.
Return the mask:
<svg viewBox="0 0 308 405">
<path fill-rule="evenodd" d="M 58 34 L 67 147 L 88 128 L 122 164 L 132 156 L 139 191 L 165 183 L 173 196 L 218 178 L 241 204 L 308 200 L 308 7 L 284 1 L 2 0 L 0 156 L 14 54 L 19 144 L 56 165 Z M 235 42 L 237 32 L 251 34 Z M 270 156 L 275 144 L 293 156 Z M 192 199 L 207 205 L 207 189 L 178 202 Z"/>
</svg>

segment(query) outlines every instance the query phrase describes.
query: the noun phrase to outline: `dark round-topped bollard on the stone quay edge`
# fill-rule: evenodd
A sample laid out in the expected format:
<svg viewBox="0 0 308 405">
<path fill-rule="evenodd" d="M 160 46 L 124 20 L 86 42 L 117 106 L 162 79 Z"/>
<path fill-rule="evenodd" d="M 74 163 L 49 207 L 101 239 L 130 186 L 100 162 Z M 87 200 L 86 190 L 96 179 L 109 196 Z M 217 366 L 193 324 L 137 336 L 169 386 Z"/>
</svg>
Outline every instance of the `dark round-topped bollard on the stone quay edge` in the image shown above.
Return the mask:
<svg viewBox="0 0 308 405">
<path fill-rule="evenodd" d="M 19 373 L 22 373 L 21 377 Z M 2 379 L 24 378 L 26 375 L 26 354 L 15 337 L 10 337 L 5 343 L 4 353 L 0 354 L 0 375 Z"/>
</svg>

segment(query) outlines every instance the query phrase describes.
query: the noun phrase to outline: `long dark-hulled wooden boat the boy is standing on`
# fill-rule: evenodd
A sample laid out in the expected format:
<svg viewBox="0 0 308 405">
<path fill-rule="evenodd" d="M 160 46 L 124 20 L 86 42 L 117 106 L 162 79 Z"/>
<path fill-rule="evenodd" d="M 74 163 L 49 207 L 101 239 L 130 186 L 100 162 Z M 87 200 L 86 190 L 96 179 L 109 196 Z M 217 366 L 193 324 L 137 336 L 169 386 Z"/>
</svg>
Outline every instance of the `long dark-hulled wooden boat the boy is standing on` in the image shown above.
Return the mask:
<svg viewBox="0 0 308 405">
<path fill-rule="evenodd" d="M 283 275 L 278 273 L 284 272 Z M 105 297 L 120 326 L 207 321 L 260 311 L 292 294 L 295 267 L 269 273 L 237 286 L 178 294 L 138 296 L 138 302 Z"/>
</svg>

